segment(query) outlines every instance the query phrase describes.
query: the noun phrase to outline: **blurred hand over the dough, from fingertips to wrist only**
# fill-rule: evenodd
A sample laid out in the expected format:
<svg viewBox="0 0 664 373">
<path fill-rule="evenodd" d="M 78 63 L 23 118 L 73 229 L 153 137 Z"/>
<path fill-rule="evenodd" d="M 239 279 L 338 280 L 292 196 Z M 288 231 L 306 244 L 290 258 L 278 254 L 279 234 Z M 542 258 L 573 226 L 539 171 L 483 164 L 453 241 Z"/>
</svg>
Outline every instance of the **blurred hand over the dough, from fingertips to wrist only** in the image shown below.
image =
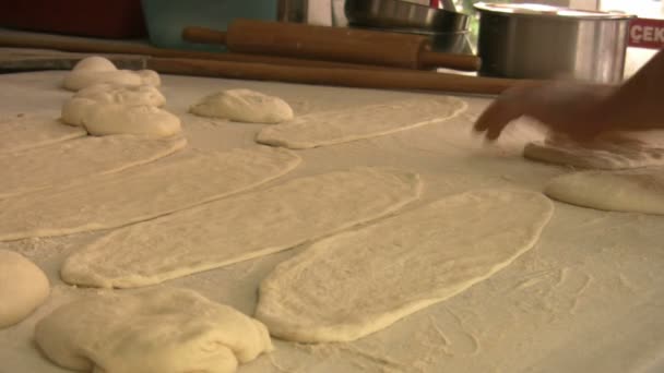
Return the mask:
<svg viewBox="0 0 664 373">
<path fill-rule="evenodd" d="M 545 124 L 554 135 L 591 140 L 609 130 L 603 104 L 614 89 L 606 85 L 562 82 L 517 86 L 491 103 L 474 129 L 494 141 L 511 121 L 530 117 Z"/>
</svg>

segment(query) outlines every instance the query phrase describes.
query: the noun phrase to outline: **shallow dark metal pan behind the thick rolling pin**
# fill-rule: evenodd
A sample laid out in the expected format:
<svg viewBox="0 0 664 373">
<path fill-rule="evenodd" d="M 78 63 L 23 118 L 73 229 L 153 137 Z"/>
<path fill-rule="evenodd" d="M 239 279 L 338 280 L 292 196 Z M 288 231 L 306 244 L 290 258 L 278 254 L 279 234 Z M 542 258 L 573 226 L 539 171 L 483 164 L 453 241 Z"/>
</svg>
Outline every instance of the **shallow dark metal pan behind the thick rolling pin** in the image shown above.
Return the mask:
<svg viewBox="0 0 664 373">
<path fill-rule="evenodd" d="M 358 26 L 456 33 L 469 28 L 470 16 L 402 0 L 346 0 L 348 23 Z"/>
</svg>

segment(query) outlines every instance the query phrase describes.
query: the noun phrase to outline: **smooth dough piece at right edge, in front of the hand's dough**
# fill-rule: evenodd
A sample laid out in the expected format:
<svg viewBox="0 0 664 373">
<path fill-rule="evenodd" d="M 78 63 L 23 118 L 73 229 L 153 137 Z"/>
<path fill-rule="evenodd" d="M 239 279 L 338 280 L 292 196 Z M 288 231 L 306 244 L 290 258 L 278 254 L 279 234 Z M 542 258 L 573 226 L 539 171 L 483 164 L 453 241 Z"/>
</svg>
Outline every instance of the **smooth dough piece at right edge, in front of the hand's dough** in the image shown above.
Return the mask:
<svg viewBox="0 0 664 373">
<path fill-rule="evenodd" d="M 664 215 L 664 169 L 569 173 L 550 180 L 544 193 L 583 207 Z"/>
</svg>

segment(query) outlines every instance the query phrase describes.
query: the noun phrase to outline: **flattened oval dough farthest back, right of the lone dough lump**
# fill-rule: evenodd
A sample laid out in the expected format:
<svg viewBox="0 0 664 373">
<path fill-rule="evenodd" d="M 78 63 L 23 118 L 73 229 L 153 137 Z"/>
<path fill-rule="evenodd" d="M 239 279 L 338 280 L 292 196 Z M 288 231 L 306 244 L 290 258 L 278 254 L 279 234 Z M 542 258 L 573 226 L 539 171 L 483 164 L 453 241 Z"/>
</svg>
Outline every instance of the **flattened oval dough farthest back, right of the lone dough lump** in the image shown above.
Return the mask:
<svg viewBox="0 0 664 373">
<path fill-rule="evenodd" d="M 440 122 L 465 108 L 466 104 L 454 97 L 426 97 L 317 112 L 264 128 L 257 142 L 292 149 L 345 143 Z"/>
</svg>

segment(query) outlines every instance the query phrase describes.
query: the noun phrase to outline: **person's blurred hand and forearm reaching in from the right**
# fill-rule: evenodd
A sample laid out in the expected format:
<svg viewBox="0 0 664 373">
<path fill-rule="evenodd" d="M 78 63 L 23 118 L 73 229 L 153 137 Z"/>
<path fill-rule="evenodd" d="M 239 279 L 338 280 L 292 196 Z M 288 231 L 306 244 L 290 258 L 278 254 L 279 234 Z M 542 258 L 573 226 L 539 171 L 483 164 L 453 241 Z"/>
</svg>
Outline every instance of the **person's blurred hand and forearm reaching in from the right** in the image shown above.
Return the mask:
<svg viewBox="0 0 664 373">
<path fill-rule="evenodd" d="M 580 82 L 524 84 L 498 97 L 477 119 L 475 131 L 496 140 L 509 123 L 531 117 L 555 134 L 591 140 L 607 131 L 664 129 L 664 52 L 620 86 Z"/>
</svg>

